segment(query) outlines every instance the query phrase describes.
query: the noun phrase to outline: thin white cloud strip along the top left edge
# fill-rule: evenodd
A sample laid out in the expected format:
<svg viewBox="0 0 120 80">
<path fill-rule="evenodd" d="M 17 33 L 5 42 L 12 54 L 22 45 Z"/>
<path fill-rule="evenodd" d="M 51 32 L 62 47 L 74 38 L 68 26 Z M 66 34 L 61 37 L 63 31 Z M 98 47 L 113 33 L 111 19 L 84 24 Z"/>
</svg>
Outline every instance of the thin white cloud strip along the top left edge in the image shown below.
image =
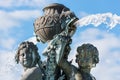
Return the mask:
<svg viewBox="0 0 120 80">
<path fill-rule="evenodd" d="M 42 7 L 48 3 L 56 0 L 0 0 L 0 7 L 13 8 L 13 7 Z"/>
</svg>

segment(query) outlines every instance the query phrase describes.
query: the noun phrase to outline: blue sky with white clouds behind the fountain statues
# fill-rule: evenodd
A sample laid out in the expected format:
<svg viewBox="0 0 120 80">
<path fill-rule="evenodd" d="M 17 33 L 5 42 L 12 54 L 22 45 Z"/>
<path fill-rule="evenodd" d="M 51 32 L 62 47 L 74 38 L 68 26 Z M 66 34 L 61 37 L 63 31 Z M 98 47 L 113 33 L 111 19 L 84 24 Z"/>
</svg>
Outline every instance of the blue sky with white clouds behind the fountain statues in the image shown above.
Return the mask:
<svg viewBox="0 0 120 80">
<path fill-rule="evenodd" d="M 34 37 L 33 22 L 50 3 L 67 6 L 82 21 L 72 37 L 69 59 L 75 59 L 77 46 L 92 43 L 98 48 L 100 57 L 92 74 L 97 80 L 120 80 L 119 0 L 0 0 L 0 80 L 20 78 L 23 69 L 14 62 L 15 51 L 22 41 Z M 106 16 L 108 20 L 101 19 Z M 37 43 L 37 46 L 44 59 L 41 53 L 46 44 Z"/>
</svg>

